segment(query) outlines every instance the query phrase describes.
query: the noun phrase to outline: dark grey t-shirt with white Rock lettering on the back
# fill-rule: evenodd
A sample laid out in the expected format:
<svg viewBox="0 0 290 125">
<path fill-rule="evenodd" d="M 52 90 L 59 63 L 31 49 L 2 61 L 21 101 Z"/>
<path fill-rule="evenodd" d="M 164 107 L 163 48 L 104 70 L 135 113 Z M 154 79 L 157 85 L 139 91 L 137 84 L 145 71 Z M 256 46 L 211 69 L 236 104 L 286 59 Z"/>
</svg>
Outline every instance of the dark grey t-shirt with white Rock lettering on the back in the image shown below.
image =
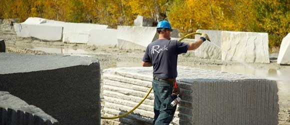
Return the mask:
<svg viewBox="0 0 290 125">
<path fill-rule="evenodd" d="M 177 77 L 177 55 L 186 53 L 187 48 L 187 43 L 157 39 L 147 46 L 142 60 L 152 63 L 153 75 L 163 79 L 175 78 Z"/>
</svg>

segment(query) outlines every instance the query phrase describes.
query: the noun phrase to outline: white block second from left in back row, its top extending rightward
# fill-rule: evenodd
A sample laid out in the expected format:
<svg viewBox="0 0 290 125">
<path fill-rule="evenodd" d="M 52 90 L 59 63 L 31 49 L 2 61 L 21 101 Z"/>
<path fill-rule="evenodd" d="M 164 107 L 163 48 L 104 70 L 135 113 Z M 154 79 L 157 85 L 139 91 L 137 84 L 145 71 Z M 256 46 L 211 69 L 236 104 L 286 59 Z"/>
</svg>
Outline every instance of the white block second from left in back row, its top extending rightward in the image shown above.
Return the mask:
<svg viewBox="0 0 290 125">
<path fill-rule="evenodd" d="M 95 28 L 105 29 L 107 25 L 72 22 L 64 23 L 62 41 L 69 43 L 87 43 L 89 31 Z"/>
</svg>

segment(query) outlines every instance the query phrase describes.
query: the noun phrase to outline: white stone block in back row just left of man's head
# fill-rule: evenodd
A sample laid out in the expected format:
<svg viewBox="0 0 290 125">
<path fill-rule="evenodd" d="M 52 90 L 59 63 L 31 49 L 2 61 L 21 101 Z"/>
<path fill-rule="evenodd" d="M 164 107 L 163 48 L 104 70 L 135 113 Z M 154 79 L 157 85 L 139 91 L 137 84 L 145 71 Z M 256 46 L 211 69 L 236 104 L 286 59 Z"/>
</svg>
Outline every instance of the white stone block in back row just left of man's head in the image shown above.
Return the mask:
<svg viewBox="0 0 290 125">
<path fill-rule="evenodd" d="M 158 38 L 156 27 L 143 27 L 143 26 L 124 26 L 118 25 L 117 39 L 124 42 L 128 41 L 136 45 L 147 47 L 149 43 Z M 120 45 L 118 44 L 118 47 Z M 126 48 L 135 49 L 134 45 L 126 46 Z"/>
</svg>

